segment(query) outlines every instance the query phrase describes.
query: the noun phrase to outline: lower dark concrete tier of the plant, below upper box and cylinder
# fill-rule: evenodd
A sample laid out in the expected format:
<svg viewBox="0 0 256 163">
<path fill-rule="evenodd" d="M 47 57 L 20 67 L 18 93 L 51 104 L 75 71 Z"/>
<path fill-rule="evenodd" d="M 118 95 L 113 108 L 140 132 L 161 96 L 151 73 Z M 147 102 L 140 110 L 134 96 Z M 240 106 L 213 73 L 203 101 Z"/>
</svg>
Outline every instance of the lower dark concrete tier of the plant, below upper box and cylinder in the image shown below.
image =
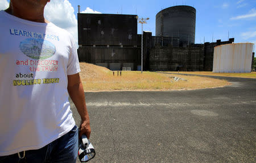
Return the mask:
<svg viewBox="0 0 256 163">
<path fill-rule="evenodd" d="M 156 46 L 151 32 L 143 33 L 143 70 L 184 70 L 212 71 L 214 47 L 229 44 L 229 41 L 217 40 L 216 43 L 191 44 L 188 47 L 172 47 L 171 44 Z M 141 35 L 138 35 L 141 39 Z M 141 43 L 141 41 L 140 41 Z M 141 44 L 134 47 L 82 46 L 78 50 L 79 60 L 93 64 L 133 63 L 133 70 L 141 65 Z M 122 69 L 122 65 L 120 69 Z"/>
</svg>

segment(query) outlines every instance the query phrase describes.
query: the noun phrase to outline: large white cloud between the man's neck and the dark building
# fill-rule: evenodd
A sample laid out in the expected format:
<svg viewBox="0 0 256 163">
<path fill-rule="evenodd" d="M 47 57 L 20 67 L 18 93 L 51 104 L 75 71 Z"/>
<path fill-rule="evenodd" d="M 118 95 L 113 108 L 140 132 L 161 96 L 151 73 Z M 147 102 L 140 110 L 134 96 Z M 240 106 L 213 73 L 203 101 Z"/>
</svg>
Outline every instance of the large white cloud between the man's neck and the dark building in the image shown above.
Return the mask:
<svg viewBox="0 0 256 163">
<path fill-rule="evenodd" d="M 56 26 L 70 32 L 76 43 L 78 42 L 77 19 L 74 8 L 68 0 L 50 1 L 44 9 L 44 16 Z"/>
</svg>

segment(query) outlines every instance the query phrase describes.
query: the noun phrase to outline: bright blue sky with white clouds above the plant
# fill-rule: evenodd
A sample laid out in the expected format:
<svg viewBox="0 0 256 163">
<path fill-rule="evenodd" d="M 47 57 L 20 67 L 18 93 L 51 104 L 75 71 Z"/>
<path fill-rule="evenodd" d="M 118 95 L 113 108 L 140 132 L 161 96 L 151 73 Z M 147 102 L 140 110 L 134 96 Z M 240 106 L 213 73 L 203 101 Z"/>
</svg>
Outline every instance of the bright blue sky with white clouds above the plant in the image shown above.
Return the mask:
<svg viewBox="0 0 256 163">
<path fill-rule="evenodd" d="M 9 6 L 10 0 L 0 0 L 0 10 Z M 150 18 L 143 31 L 155 36 L 155 16 L 167 7 L 188 5 L 196 9 L 195 43 L 222 41 L 234 37 L 235 43 L 256 43 L 256 0 L 142 0 L 142 1 L 84 1 L 51 0 L 44 15 L 50 22 L 71 32 L 77 41 L 77 5 L 81 12 L 97 14 L 132 14 Z M 141 24 L 138 24 L 141 34 Z M 254 49 L 255 51 L 255 49 Z"/>
</svg>

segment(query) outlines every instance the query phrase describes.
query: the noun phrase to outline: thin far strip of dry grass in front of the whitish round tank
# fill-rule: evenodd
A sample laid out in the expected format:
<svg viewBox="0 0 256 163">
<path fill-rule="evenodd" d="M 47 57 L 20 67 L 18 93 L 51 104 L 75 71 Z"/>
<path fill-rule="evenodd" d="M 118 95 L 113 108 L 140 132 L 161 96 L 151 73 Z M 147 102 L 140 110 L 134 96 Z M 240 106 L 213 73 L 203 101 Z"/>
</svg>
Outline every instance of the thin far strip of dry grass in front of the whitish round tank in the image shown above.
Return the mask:
<svg viewBox="0 0 256 163">
<path fill-rule="evenodd" d="M 177 73 L 177 72 L 170 72 Z M 239 78 L 256 78 L 256 72 L 251 73 L 213 73 L 213 72 L 179 72 L 181 74 L 196 74 L 204 76 L 222 76 L 222 77 L 239 77 Z M 177 73 L 177 74 L 179 74 Z"/>
</svg>

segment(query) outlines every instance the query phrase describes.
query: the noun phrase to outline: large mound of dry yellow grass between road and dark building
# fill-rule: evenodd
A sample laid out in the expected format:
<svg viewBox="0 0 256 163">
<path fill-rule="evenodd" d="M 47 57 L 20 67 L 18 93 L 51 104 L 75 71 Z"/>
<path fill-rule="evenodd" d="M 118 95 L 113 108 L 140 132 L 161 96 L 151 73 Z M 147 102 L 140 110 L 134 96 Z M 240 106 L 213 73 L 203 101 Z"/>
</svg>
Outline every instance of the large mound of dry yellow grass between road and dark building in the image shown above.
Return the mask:
<svg viewBox="0 0 256 163">
<path fill-rule="evenodd" d="M 221 87 L 230 83 L 205 77 L 190 77 L 175 75 L 187 81 L 171 82 L 171 74 L 155 72 L 122 72 L 122 76 L 113 76 L 109 69 L 93 64 L 80 63 L 81 79 L 85 91 L 114 90 L 191 90 L 208 87 Z"/>
</svg>

